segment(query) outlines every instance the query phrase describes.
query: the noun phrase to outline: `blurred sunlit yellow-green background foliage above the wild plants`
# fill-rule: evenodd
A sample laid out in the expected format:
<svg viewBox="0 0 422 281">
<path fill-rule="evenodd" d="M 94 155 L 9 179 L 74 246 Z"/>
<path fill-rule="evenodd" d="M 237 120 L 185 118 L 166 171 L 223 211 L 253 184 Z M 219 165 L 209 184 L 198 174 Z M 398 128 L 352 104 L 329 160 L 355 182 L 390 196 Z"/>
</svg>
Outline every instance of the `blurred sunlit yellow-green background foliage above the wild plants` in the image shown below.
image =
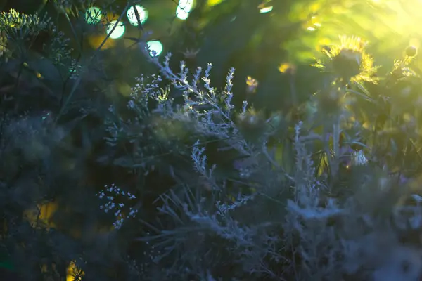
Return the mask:
<svg viewBox="0 0 422 281">
<path fill-rule="evenodd" d="M 35 3 L 37 1 L 32 1 L 32 6 L 25 6 L 25 11 L 57 13 L 60 28 L 66 34 L 72 31 L 60 13 L 60 5 L 65 3 L 65 11 L 72 11 L 73 15 L 84 13 L 84 9 L 89 6 L 84 1 L 74 1 L 75 4 L 72 1 L 39 1 L 38 6 Z M 421 11 L 422 3 L 418 0 L 197 0 L 187 20 L 175 17 L 177 1 L 143 0 L 139 3 L 149 13 L 143 29 L 153 32 L 151 39 L 162 41 L 163 55 L 171 51 L 176 55 L 175 60 L 178 60 L 185 59 L 183 52 L 186 50 L 198 50 L 194 59 L 187 59 L 188 66 L 213 63 L 213 78 L 220 85 L 229 67 L 235 67 L 234 84 L 238 93 L 235 99 L 238 103 L 245 98 L 245 79 L 251 76 L 259 82 L 255 103 L 272 110 L 286 109 L 281 103 L 288 106 L 284 97 L 290 96 L 288 89 L 280 92 L 281 88 L 286 88 L 282 85 L 291 84 L 291 79 L 279 72 L 279 65 L 294 65 L 298 70 L 296 81 L 315 77 L 314 83 L 296 83 L 295 91 L 303 100 L 321 86 L 319 75 L 309 65 L 314 62 L 314 58 L 321 56 L 322 46 L 338 43 L 340 35 L 354 35 L 369 41 L 368 51 L 378 58 L 378 65 L 391 65 L 394 58 L 403 55 L 404 48 L 409 44 L 418 46 L 422 35 L 418 28 L 417 12 Z M 124 1 L 96 1 L 97 6 L 113 7 L 115 14 L 119 13 L 124 4 Z M 8 1 L 4 8 L 13 5 L 13 1 Z M 260 13 L 262 7 L 272 7 L 272 10 Z M 71 20 L 76 23 L 75 19 Z M 141 36 L 140 30 L 130 26 L 127 21 L 124 23 L 127 25 L 124 37 Z M 85 37 L 93 36 L 87 30 L 77 29 L 76 32 L 77 38 L 82 33 Z M 132 41 L 115 41 L 114 50 L 109 51 L 114 70 L 110 73 L 112 77 L 130 81 L 139 72 L 154 71 L 153 67 L 142 62 L 136 50 L 130 52 L 132 61 L 120 58 L 119 54 L 128 52 L 119 48 L 127 48 Z M 75 38 L 72 38 L 72 44 L 76 51 Z M 126 77 L 113 73 L 123 67 L 128 71 L 125 72 Z M 381 70 L 381 73 L 386 71 Z"/>
</svg>

